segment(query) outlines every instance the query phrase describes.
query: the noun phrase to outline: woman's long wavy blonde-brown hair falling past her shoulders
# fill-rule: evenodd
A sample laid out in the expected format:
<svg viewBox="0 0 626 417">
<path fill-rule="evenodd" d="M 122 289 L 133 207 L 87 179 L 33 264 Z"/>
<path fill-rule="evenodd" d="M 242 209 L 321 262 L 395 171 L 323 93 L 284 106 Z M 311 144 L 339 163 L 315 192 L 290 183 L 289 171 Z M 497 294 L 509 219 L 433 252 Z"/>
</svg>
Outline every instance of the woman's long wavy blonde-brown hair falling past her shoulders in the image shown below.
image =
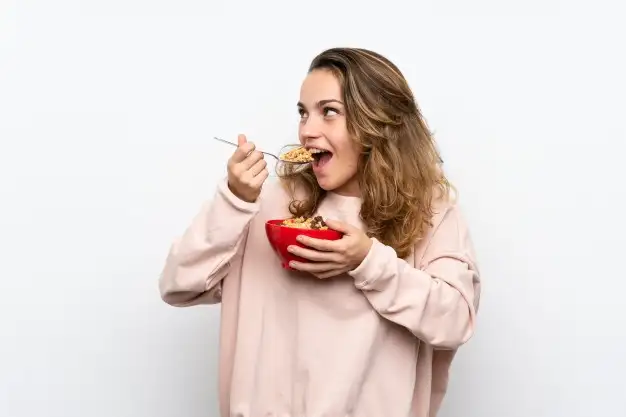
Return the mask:
<svg viewBox="0 0 626 417">
<path fill-rule="evenodd" d="M 311 62 L 315 70 L 339 80 L 348 132 L 362 147 L 357 175 L 367 234 L 404 258 L 431 226 L 434 200 L 451 188 L 413 93 L 392 62 L 366 49 L 328 49 Z M 326 195 L 312 168 L 280 164 L 277 174 L 291 214 L 312 216 Z"/>
</svg>

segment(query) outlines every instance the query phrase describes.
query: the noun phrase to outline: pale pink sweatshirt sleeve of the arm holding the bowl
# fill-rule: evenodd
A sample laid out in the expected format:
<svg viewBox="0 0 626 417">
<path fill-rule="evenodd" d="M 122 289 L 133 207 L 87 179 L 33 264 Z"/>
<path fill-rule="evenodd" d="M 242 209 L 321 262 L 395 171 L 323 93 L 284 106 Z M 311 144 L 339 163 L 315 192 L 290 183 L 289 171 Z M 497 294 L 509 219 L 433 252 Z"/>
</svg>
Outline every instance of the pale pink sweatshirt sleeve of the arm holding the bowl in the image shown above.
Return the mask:
<svg viewBox="0 0 626 417">
<path fill-rule="evenodd" d="M 474 333 L 480 278 L 457 206 L 434 224 L 418 268 L 376 239 L 350 275 L 385 319 L 439 349 L 456 349 Z"/>
</svg>

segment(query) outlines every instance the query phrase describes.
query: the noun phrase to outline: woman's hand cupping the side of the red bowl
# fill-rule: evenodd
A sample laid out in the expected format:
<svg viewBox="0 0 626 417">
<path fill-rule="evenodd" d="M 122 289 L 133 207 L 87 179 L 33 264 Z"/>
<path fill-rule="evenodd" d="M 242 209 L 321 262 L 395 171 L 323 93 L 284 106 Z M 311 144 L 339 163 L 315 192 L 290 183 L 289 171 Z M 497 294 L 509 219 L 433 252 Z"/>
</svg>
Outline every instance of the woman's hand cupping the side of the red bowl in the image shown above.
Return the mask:
<svg viewBox="0 0 626 417">
<path fill-rule="evenodd" d="M 298 236 L 298 242 L 307 246 L 289 246 L 289 252 L 311 262 L 292 261 L 289 265 L 298 271 L 310 272 L 317 278 L 331 278 L 355 269 L 363 262 L 372 247 L 371 239 L 354 226 L 336 220 L 325 220 L 329 228 L 344 234 L 339 240 L 314 239 Z"/>
</svg>

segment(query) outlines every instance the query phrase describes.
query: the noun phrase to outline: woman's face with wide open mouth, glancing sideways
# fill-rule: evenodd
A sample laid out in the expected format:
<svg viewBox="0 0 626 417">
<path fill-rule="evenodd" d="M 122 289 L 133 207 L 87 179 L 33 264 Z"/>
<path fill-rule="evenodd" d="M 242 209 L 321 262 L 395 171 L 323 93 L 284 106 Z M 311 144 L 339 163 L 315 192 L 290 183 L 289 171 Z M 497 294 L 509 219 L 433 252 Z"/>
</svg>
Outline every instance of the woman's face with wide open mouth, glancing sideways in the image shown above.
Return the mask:
<svg viewBox="0 0 626 417">
<path fill-rule="evenodd" d="M 346 124 L 341 85 L 328 70 L 314 70 L 300 89 L 300 143 L 313 152 L 313 172 L 320 187 L 358 196 L 357 166 L 360 146 Z"/>
</svg>

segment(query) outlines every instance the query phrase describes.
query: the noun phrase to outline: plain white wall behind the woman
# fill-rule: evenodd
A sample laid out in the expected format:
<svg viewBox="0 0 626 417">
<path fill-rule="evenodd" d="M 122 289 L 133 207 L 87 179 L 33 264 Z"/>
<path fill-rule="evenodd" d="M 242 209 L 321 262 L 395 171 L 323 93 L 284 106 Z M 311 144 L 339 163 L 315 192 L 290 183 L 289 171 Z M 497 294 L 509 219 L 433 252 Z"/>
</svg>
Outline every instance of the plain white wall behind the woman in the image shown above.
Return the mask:
<svg viewBox="0 0 626 417">
<path fill-rule="evenodd" d="M 210 138 L 293 142 L 338 45 L 404 71 L 474 232 L 478 334 L 441 415 L 625 415 L 621 11 L 408 4 L 0 3 L 0 416 L 216 416 L 219 308 L 157 277 L 224 175 Z"/>
</svg>

